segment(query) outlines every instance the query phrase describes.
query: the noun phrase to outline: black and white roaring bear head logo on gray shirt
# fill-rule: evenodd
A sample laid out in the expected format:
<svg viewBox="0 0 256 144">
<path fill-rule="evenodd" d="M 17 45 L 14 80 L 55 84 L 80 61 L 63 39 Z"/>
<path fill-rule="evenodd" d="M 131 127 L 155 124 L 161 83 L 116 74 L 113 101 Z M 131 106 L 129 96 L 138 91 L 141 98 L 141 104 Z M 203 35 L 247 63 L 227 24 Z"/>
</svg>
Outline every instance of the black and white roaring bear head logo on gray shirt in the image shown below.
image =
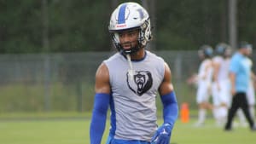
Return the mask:
<svg viewBox="0 0 256 144">
<path fill-rule="evenodd" d="M 133 73 L 133 77 L 126 73 L 126 80 L 129 88 L 137 95 L 141 96 L 152 87 L 153 78 L 148 71 L 138 71 Z"/>
</svg>

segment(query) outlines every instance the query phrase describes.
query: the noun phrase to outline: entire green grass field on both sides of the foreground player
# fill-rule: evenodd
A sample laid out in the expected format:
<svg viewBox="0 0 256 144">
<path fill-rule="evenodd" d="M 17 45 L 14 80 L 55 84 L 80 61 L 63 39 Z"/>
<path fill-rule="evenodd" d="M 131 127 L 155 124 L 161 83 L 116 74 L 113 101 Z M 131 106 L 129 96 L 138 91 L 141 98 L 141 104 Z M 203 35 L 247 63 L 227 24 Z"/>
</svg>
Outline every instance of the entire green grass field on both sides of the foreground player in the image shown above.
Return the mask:
<svg viewBox="0 0 256 144">
<path fill-rule="evenodd" d="M 56 114 L 53 114 L 56 115 Z M 0 115 L 1 144 L 89 144 L 90 116 L 87 114 L 59 114 L 54 117 L 44 114 L 19 118 Z M 86 116 L 85 116 L 86 115 Z M 90 115 L 90 114 L 89 114 Z M 193 126 L 195 119 L 188 124 L 179 120 L 172 131 L 172 144 L 253 144 L 256 143 L 256 132 L 248 128 L 235 127 L 225 132 L 215 127 L 211 118 L 200 128 Z M 160 122 L 161 123 L 161 122 Z M 102 143 L 108 136 L 108 125 Z"/>
</svg>

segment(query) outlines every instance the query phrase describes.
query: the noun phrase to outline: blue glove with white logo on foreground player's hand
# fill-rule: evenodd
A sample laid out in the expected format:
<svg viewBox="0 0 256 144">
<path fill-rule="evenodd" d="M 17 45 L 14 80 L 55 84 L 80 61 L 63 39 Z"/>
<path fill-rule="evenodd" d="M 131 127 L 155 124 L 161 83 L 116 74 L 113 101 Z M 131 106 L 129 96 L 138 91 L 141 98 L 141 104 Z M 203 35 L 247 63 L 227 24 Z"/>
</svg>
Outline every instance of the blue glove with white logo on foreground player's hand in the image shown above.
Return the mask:
<svg viewBox="0 0 256 144">
<path fill-rule="evenodd" d="M 170 144 L 171 134 L 172 125 L 163 124 L 154 133 L 154 136 L 151 139 L 151 144 Z"/>
</svg>

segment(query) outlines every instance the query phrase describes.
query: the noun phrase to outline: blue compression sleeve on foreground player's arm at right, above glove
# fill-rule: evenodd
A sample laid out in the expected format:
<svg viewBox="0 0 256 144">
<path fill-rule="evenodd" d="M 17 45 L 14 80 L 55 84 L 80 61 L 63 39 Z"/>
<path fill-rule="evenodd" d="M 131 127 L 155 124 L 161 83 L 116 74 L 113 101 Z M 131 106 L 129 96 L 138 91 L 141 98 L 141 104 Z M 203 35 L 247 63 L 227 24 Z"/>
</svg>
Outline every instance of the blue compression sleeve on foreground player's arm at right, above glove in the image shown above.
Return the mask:
<svg viewBox="0 0 256 144">
<path fill-rule="evenodd" d="M 164 123 L 171 124 L 173 127 L 178 114 L 178 106 L 175 93 L 172 91 L 169 94 L 161 95 L 160 98 L 163 103 Z"/>
</svg>

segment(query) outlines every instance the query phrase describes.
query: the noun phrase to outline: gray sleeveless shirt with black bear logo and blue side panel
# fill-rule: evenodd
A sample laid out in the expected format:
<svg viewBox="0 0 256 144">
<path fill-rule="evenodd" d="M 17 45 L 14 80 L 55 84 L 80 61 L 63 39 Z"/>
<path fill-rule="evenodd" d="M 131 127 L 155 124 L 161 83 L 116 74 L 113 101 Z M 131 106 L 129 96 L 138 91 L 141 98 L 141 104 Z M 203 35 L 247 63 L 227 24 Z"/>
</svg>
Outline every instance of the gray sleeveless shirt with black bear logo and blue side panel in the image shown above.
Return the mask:
<svg viewBox="0 0 256 144">
<path fill-rule="evenodd" d="M 131 61 L 119 53 L 104 63 L 112 90 L 111 130 L 116 139 L 150 141 L 157 129 L 155 99 L 164 78 L 164 60 L 146 51 L 143 60 Z"/>
</svg>

